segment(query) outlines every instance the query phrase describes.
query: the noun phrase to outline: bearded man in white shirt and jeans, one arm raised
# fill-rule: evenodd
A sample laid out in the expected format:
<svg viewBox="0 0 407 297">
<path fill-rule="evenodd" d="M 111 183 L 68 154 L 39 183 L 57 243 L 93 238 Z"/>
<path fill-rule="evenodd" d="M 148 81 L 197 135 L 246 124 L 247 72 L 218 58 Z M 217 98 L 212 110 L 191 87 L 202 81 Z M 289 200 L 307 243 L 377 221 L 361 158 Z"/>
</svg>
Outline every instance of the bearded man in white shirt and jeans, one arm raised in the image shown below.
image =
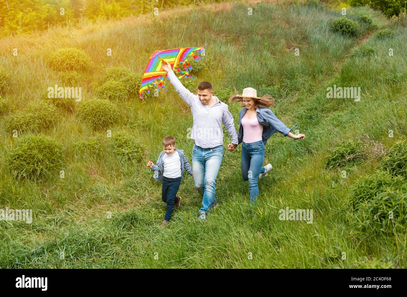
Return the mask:
<svg viewBox="0 0 407 297">
<path fill-rule="evenodd" d="M 238 144 L 233 117 L 228 105 L 213 96 L 212 84 L 202 81 L 198 86 L 198 94 L 194 95 L 182 85 L 171 65 L 162 63 L 162 68 L 167 72 L 175 91 L 191 108 L 193 117 L 191 139 L 195 141 L 192 151 L 192 171 L 195 187 L 202 196 L 199 219 L 205 220 L 208 211 L 218 204 L 215 198 L 215 185 L 223 158 L 222 123 L 232 139 L 228 149 L 231 150 Z"/>
</svg>

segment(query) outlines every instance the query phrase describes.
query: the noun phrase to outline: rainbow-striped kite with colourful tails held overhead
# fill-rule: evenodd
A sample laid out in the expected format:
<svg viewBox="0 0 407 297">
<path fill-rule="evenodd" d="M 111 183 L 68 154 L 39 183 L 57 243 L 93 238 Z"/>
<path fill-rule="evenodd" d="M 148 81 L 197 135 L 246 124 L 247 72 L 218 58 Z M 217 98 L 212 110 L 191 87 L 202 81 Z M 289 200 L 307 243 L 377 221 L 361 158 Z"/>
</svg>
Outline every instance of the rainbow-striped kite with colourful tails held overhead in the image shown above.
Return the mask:
<svg viewBox="0 0 407 297">
<path fill-rule="evenodd" d="M 164 69 L 162 69 L 162 61 L 165 61 L 171 65 L 171 68 L 178 65 L 178 63 L 182 63 L 185 70 L 180 70 L 179 67 L 176 67 L 176 70 L 179 73 L 182 73 L 181 77 L 189 77 L 193 79 L 188 70 L 191 70 L 192 67 L 189 64 L 187 57 L 192 56 L 195 61 L 199 61 L 202 57 L 195 55 L 193 52 L 197 51 L 201 53 L 204 50 L 206 43 L 202 47 L 187 47 L 187 48 L 173 48 L 171 50 L 164 50 L 164 51 L 155 51 L 147 63 L 146 70 L 144 70 L 144 75 L 141 80 L 140 84 L 140 98 L 143 98 L 145 92 L 150 93 L 151 87 L 161 87 L 164 90 L 168 91 L 167 88 L 164 86 L 164 76 L 167 77 L 167 73 Z M 188 68 L 187 68 L 188 65 Z M 167 77 L 168 78 L 168 77 Z"/>
</svg>

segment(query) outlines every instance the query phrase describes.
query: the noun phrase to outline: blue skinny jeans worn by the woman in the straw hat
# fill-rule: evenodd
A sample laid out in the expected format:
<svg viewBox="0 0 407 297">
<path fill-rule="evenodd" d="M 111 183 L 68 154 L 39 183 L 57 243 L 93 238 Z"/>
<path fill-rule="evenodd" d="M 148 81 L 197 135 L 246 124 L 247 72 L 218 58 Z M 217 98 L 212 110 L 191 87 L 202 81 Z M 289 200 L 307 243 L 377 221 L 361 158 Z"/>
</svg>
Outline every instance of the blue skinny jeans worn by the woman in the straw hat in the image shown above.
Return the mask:
<svg viewBox="0 0 407 297">
<path fill-rule="evenodd" d="M 258 196 L 258 175 L 265 171 L 263 167 L 264 151 L 264 143 L 261 140 L 251 143 L 242 142 L 242 178 L 249 180 L 250 202 L 252 203 L 256 202 Z"/>
</svg>

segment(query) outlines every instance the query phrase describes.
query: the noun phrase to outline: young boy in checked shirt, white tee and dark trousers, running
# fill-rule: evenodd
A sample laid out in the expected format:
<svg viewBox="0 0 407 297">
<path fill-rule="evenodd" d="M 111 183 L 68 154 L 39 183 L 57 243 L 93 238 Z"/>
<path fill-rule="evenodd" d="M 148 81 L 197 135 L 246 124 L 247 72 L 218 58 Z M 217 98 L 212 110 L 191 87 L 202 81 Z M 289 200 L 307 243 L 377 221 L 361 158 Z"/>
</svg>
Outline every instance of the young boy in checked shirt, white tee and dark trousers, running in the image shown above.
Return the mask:
<svg viewBox="0 0 407 297">
<path fill-rule="evenodd" d="M 160 227 L 164 227 L 171 219 L 174 206 L 179 207 L 181 197 L 176 195 L 183 178 L 184 169 L 193 177 L 192 167 L 184 155 L 184 150 L 175 148 L 175 137 L 164 137 L 162 145 L 164 151 L 160 153 L 157 165 L 151 161 L 147 163 L 147 167 L 155 171 L 153 178 L 162 182 L 162 201 L 167 203 L 167 211 Z"/>
</svg>

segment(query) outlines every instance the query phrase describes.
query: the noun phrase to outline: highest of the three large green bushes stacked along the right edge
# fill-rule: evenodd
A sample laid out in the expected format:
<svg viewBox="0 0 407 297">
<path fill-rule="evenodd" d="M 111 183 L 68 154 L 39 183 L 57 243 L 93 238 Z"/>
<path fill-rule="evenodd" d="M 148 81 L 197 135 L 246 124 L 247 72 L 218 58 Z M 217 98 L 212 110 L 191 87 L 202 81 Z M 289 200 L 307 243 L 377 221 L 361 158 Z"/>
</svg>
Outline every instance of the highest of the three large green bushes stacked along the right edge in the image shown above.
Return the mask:
<svg viewBox="0 0 407 297">
<path fill-rule="evenodd" d="M 407 141 L 397 142 L 390 147 L 390 151 L 380 161 L 379 169 L 407 178 Z"/>
</svg>

